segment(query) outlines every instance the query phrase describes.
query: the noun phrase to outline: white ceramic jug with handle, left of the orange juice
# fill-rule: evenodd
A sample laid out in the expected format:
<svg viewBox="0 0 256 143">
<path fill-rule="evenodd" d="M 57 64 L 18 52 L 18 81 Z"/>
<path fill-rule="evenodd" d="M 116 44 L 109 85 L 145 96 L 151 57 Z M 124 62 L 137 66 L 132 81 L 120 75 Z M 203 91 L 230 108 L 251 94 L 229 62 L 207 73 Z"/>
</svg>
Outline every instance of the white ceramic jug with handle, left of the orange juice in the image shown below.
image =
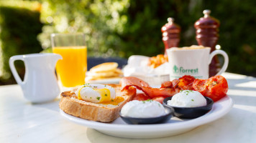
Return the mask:
<svg viewBox="0 0 256 143">
<path fill-rule="evenodd" d="M 33 103 L 49 102 L 60 94 L 55 64 L 62 59 L 60 54 L 25 54 L 12 56 L 9 66 L 17 83 L 22 87 L 24 97 Z M 25 66 L 24 81 L 20 79 L 14 61 L 22 60 Z"/>
</svg>

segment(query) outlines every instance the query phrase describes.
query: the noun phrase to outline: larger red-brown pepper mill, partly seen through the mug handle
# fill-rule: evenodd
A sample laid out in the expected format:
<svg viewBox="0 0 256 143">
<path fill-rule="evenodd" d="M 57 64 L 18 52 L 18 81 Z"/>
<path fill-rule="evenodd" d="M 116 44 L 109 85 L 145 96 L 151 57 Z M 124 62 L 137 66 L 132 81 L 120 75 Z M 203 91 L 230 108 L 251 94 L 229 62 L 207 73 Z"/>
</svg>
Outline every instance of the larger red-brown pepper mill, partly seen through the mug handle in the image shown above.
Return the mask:
<svg viewBox="0 0 256 143">
<path fill-rule="evenodd" d="M 210 10 L 204 10 L 203 13 L 204 17 L 201 17 L 194 24 L 196 28 L 196 41 L 198 45 L 209 46 L 211 51 L 214 51 L 219 39 L 219 20 L 210 16 Z M 214 56 L 209 66 L 209 77 L 215 76 L 219 70 L 218 56 Z"/>
</svg>

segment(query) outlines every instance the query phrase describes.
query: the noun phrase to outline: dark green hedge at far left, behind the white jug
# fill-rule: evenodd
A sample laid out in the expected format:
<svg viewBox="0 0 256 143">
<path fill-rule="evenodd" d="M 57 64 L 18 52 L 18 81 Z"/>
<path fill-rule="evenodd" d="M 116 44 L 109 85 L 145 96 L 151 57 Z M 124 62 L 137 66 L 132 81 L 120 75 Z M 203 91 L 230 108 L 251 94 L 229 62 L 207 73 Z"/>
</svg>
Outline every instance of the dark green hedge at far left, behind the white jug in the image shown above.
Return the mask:
<svg viewBox="0 0 256 143">
<path fill-rule="evenodd" d="M 17 54 L 38 53 L 42 51 L 37 35 L 42 32 L 40 12 L 8 6 L 0 3 L 0 58 L 1 82 L 4 84 L 15 83 L 9 69 L 9 58 Z M 24 77 L 24 63 L 16 61 L 18 73 Z"/>
</svg>

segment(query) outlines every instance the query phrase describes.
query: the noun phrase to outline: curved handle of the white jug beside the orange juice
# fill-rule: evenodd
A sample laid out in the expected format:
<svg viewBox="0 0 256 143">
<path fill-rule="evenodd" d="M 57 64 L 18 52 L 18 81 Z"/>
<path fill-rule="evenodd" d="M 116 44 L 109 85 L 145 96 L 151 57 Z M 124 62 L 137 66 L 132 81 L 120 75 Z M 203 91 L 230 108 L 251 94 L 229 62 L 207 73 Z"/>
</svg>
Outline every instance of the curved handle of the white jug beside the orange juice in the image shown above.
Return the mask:
<svg viewBox="0 0 256 143">
<path fill-rule="evenodd" d="M 12 71 L 12 74 L 14 74 L 14 79 L 16 80 L 16 82 L 22 86 L 24 84 L 24 82 L 22 82 L 22 79 L 20 79 L 19 77 L 19 74 L 17 73 L 17 70 L 14 66 L 14 61 L 16 60 L 22 60 L 24 61 L 24 57 L 23 55 L 17 55 L 17 56 L 12 56 L 10 59 L 9 59 L 9 66 L 11 68 L 11 71 Z M 25 65 L 26 66 L 26 65 Z"/>
</svg>

